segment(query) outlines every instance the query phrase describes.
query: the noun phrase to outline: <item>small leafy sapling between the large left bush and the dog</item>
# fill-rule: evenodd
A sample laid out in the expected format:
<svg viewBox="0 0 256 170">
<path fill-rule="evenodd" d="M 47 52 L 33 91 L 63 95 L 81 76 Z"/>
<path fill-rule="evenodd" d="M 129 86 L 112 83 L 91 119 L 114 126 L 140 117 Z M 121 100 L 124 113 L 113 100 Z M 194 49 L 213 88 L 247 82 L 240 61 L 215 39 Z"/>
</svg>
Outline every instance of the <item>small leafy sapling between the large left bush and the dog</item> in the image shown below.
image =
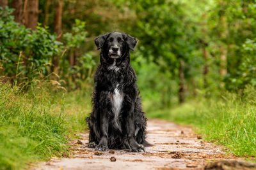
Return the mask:
<svg viewBox="0 0 256 170">
<path fill-rule="evenodd" d="M 85 80 L 91 82 L 92 69 L 96 65 L 90 53 L 79 53 L 79 47 L 86 40 L 87 32 L 84 31 L 86 23 L 78 19 L 75 22 L 71 32 L 63 34 L 63 43 L 67 52 L 61 60 L 61 75 L 70 89 L 81 87 Z M 70 64 L 70 58 L 74 60 L 73 65 Z"/>
</svg>

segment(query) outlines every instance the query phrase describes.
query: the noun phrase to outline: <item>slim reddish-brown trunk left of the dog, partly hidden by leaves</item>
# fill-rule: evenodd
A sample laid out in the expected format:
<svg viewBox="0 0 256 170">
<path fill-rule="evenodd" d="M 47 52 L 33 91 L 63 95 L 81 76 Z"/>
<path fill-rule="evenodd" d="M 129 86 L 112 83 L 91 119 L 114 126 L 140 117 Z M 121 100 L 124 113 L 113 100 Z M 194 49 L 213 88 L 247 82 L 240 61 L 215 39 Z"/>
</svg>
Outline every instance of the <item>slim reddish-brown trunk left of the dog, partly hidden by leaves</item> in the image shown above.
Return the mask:
<svg viewBox="0 0 256 170">
<path fill-rule="evenodd" d="M 63 0 L 58 0 L 54 6 L 54 32 L 57 34 L 57 40 L 60 41 L 61 39 L 61 21 L 62 21 L 62 7 L 63 7 Z M 52 59 L 52 71 L 56 74 L 59 73 L 58 69 L 60 66 L 60 55 L 54 56 Z"/>
</svg>

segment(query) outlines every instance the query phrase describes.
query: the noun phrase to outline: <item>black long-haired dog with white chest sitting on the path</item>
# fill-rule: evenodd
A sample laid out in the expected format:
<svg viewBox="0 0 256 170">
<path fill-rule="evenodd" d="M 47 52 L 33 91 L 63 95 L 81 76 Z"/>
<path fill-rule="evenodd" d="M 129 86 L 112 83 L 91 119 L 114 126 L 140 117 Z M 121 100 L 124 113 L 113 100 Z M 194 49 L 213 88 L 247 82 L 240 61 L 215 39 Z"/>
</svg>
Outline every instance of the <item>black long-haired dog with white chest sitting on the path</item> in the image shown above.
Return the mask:
<svg viewBox="0 0 256 170">
<path fill-rule="evenodd" d="M 95 73 L 93 111 L 86 122 L 90 129 L 89 147 L 145 152 L 147 118 L 141 109 L 136 74 L 130 65 L 129 50 L 138 39 L 110 32 L 95 40 L 100 64 Z"/>
</svg>

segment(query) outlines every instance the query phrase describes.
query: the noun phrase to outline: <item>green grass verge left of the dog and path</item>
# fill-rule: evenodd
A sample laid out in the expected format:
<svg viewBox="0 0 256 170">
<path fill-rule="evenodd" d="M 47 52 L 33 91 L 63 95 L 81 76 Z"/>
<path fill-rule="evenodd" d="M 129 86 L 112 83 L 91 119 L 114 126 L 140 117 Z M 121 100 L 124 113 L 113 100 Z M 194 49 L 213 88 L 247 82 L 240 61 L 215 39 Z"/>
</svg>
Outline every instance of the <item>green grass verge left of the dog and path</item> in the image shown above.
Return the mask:
<svg viewBox="0 0 256 170">
<path fill-rule="evenodd" d="M 85 129 L 90 111 L 86 92 L 19 92 L 0 83 L 0 169 L 22 169 L 28 162 L 61 157 L 68 137 Z"/>
</svg>

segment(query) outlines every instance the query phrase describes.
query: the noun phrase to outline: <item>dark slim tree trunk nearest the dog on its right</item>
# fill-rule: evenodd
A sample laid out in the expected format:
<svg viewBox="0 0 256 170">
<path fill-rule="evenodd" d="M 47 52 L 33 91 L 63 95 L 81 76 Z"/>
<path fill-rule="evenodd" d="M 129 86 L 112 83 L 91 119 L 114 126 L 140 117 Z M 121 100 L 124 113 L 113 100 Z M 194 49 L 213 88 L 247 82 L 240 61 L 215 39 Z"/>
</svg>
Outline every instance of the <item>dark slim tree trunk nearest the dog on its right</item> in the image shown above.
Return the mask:
<svg viewBox="0 0 256 170">
<path fill-rule="evenodd" d="M 185 89 L 185 78 L 184 78 L 184 61 L 180 60 L 179 66 L 179 102 L 184 103 L 186 98 L 186 89 Z"/>
</svg>

